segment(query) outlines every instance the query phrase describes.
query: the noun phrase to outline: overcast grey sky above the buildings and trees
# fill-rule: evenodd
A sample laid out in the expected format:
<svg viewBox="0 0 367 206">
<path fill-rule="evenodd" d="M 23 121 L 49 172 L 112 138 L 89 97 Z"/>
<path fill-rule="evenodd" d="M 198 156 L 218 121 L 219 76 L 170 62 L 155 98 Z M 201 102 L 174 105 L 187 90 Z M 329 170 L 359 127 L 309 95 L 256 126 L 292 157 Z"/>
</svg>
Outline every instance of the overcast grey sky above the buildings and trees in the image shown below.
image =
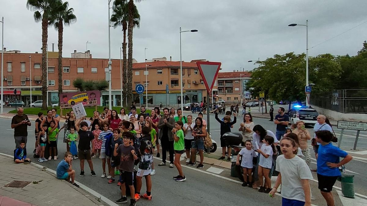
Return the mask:
<svg viewBox="0 0 367 206">
<path fill-rule="evenodd" d="M 113 1 L 113 0 L 112 0 Z M 69 0 L 77 22 L 64 28 L 63 57 L 88 50 L 94 58 L 108 58 L 108 0 Z M 112 5 L 112 4 L 111 4 Z M 309 55 L 355 55 L 367 39 L 367 23 L 326 43 L 329 38 L 367 21 L 367 1 L 354 0 L 143 0 L 136 3 L 140 28 L 134 29 L 133 57 L 166 56 L 179 61 L 179 27 L 199 32 L 182 33 L 182 59 L 222 62 L 222 71 L 251 70 L 248 60 L 306 49 L 306 28 L 289 27 L 309 20 Z M 112 13 L 112 11 L 111 11 Z M 4 47 L 22 52 L 40 51 L 41 23 L 35 23 L 26 0 L 0 0 L 4 16 Z M 111 56 L 120 58 L 121 27 L 111 28 Z M 49 51 L 57 32 L 48 30 Z"/>
</svg>

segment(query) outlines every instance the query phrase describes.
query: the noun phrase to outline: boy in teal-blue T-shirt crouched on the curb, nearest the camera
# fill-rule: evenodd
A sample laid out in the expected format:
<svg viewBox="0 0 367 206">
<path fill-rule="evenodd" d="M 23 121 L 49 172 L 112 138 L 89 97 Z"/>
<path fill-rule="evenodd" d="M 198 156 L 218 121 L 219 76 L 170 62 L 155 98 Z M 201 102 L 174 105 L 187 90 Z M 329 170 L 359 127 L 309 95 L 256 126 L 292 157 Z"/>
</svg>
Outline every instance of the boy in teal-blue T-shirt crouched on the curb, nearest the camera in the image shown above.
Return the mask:
<svg viewBox="0 0 367 206">
<path fill-rule="evenodd" d="M 57 165 L 56 177 L 59 180 L 66 180 L 73 184 L 75 187 L 79 187 L 78 184 L 74 182 L 75 170 L 72 169 L 73 155 L 70 152 L 65 152 L 64 159 Z"/>
</svg>

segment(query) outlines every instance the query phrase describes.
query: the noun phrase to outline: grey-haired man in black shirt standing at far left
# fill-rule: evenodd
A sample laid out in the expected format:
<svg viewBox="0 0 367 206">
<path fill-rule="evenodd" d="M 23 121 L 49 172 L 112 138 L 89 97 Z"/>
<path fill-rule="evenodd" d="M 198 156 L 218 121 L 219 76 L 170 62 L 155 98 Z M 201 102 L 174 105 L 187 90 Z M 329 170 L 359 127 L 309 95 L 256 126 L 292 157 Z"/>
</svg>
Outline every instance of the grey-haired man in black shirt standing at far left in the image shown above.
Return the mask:
<svg viewBox="0 0 367 206">
<path fill-rule="evenodd" d="M 27 146 L 27 126 L 30 126 L 29 118 L 23 114 L 23 108 L 18 107 L 17 115 L 11 119 L 11 128 L 14 129 L 15 148 L 20 146 L 21 141 L 24 141 Z"/>
</svg>

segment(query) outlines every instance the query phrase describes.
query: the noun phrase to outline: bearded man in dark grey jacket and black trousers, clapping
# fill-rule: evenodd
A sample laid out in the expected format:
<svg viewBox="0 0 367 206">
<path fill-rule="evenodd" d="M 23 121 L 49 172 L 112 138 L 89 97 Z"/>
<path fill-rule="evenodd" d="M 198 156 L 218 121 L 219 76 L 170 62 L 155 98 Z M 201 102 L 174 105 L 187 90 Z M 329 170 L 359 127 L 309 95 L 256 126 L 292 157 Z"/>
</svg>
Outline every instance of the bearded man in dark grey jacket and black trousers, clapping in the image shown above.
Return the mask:
<svg viewBox="0 0 367 206">
<path fill-rule="evenodd" d="M 166 165 L 166 151 L 170 152 L 170 168 L 173 168 L 173 136 L 171 130 L 175 127 L 175 120 L 171 118 L 169 114 L 170 110 L 168 108 L 163 109 L 164 117 L 159 119 L 158 128 L 159 139 L 162 146 L 162 162 L 158 166 Z"/>
</svg>

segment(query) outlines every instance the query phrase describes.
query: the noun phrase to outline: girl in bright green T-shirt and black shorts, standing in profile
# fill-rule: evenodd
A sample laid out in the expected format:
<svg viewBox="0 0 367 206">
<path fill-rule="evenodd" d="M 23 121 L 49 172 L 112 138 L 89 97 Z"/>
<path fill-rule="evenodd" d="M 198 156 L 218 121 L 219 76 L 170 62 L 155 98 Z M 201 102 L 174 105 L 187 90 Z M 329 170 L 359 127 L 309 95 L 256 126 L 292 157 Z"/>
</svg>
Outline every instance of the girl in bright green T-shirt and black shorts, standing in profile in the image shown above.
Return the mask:
<svg viewBox="0 0 367 206">
<path fill-rule="evenodd" d="M 183 127 L 183 123 L 181 121 L 177 121 L 175 123 L 175 127 L 172 129 L 172 136 L 174 139 L 173 148 L 175 150 L 175 160 L 173 163 L 175 164 L 178 170 L 178 176 L 173 177 L 173 179 L 178 182 L 182 182 L 186 180 L 186 177 L 182 172 L 182 167 L 181 167 L 181 162 L 180 162 L 180 157 L 185 152 L 185 141 L 183 140 L 184 135 L 183 135 L 182 127 Z"/>
</svg>

